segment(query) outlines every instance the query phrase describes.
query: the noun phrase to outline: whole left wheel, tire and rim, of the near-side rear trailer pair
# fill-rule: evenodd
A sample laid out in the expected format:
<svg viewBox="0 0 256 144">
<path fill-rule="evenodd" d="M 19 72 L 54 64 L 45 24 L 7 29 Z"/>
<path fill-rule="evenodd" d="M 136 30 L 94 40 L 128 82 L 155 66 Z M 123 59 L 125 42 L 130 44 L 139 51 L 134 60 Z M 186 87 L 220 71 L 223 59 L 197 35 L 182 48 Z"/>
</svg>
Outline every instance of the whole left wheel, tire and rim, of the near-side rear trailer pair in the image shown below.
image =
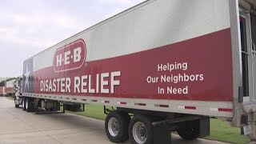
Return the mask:
<svg viewBox="0 0 256 144">
<path fill-rule="evenodd" d="M 128 140 L 129 122 L 130 116 L 127 113 L 111 111 L 105 120 L 106 136 L 116 143 Z"/>
</svg>

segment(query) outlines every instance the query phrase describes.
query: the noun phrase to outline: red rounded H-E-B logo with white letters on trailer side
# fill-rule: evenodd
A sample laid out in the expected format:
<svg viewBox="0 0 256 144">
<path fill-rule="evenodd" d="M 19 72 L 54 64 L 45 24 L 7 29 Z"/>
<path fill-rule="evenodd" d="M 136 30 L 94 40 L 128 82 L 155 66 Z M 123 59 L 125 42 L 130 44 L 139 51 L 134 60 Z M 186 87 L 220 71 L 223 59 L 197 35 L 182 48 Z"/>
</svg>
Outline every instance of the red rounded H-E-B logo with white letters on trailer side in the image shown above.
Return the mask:
<svg viewBox="0 0 256 144">
<path fill-rule="evenodd" d="M 86 60 L 86 44 L 82 39 L 78 39 L 55 51 L 54 70 L 61 72 L 78 69 Z"/>
</svg>

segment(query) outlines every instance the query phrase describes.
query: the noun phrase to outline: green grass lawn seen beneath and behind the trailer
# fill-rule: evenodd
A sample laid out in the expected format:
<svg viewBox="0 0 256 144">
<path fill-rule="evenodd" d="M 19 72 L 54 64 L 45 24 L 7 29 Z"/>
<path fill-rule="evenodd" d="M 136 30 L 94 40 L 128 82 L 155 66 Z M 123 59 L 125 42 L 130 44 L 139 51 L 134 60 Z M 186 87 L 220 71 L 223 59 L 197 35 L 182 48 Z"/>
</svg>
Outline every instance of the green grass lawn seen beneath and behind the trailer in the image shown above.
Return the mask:
<svg viewBox="0 0 256 144">
<path fill-rule="evenodd" d="M 86 105 L 85 110 L 85 112 L 70 113 L 102 120 L 105 120 L 106 118 L 106 114 L 103 114 L 103 106 Z M 239 128 L 231 127 L 226 124 L 226 122 L 222 122 L 214 118 L 210 119 L 210 136 L 206 139 L 235 144 L 244 144 L 249 142 L 249 139 L 245 135 L 240 134 Z"/>
</svg>

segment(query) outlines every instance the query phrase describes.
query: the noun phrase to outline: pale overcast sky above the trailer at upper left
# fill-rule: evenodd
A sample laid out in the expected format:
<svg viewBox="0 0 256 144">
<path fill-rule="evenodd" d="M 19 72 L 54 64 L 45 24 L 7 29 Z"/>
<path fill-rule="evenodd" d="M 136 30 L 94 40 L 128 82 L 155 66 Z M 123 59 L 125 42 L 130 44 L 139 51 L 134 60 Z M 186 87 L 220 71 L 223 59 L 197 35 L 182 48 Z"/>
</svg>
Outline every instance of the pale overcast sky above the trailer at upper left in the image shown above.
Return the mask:
<svg viewBox="0 0 256 144">
<path fill-rule="evenodd" d="M 0 5 L 0 77 L 22 75 L 22 62 L 144 0 L 8 0 Z"/>
</svg>

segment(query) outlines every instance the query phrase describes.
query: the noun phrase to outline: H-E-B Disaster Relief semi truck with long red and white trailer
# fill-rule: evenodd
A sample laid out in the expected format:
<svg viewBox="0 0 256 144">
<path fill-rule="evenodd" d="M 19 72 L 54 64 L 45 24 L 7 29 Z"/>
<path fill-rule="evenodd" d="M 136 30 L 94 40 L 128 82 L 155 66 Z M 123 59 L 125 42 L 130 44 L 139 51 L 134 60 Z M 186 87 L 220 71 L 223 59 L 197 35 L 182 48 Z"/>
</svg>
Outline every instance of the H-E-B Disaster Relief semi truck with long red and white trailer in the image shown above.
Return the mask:
<svg viewBox="0 0 256 144">
<path fill-rule="evenodd" d="M 15 106 L 102 105 L 111 142 L 202 138 L 210 117 L 255 139 L 255 3 L 142 2 L 28 58 Z"/>
</svg>

